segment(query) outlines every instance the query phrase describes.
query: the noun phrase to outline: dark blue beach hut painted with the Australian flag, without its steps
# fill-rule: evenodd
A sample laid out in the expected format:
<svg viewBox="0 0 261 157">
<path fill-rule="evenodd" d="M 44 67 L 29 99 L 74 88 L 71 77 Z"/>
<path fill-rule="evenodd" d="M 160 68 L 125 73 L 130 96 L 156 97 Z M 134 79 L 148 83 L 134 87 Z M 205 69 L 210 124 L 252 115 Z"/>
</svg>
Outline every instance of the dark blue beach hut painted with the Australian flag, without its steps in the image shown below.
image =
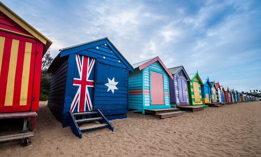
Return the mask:
<svg viewBox="0 0 261 157">
<path fill-rule="evenodd" d="M 106 38 L 60 49 L 48 72 L 48 107 L 63 126 L 71 112 L 99 109 L 108 120 L 127 117 L 133 67 Z"/>
</svg>

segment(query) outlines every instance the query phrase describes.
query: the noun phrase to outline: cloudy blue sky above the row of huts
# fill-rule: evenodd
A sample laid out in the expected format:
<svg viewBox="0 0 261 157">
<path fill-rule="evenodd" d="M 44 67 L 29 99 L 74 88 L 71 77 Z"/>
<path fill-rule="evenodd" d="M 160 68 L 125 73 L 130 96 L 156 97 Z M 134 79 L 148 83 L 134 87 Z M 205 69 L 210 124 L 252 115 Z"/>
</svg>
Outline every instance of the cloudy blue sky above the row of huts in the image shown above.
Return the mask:
<svg viewBox="0 0 261 157">
<path fill-rule="evenodd" d="M 2 0 L 58 50 L 108 37 L 131 64 L 166 67 L 238 91 L 261 90 L 260 0 Z"/>
</svg>

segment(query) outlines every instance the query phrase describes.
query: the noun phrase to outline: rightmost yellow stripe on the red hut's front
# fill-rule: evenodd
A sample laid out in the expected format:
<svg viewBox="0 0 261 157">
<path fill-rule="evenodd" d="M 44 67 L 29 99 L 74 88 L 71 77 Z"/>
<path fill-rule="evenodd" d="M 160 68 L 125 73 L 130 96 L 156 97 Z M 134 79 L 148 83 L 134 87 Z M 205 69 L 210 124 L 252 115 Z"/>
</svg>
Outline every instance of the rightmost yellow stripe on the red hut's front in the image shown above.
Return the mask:
<svg viewBox="0 0 261 157">
<path fill-rule="evenodd" d="M 22 82 L 21 82 L 20 105 L 26 105 L 26 103 L 27 103 L 30 61 L 31 61 L 31 53 L 32 53 L 31 50 L 32 50 L 32 43 L 26 42 L 23 74 L 22 74 Z"/>
</svg>

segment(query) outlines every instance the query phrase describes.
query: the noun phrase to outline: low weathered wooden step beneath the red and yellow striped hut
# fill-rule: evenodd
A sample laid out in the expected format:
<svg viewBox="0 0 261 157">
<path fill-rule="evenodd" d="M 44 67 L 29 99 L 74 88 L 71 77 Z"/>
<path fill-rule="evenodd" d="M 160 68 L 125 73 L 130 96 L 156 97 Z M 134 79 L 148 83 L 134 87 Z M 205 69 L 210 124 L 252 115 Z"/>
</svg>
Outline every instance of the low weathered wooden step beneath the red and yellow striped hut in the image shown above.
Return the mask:
<svg viewBox="0 0 261 157">
<path fill-rule="evenodd" d="M 34 136 L 35 136 L 34 132 L 25 132 L 25 133 L 20 133 L 20 134 L 4 135 L 4 136 L 0 136 L 0 143 L 7 142 L 7 141 L 20 140 L 20 139 L 24 139 L 24 138 L 30 138 L 30 137 L 34 137 Z"/>
</svg>

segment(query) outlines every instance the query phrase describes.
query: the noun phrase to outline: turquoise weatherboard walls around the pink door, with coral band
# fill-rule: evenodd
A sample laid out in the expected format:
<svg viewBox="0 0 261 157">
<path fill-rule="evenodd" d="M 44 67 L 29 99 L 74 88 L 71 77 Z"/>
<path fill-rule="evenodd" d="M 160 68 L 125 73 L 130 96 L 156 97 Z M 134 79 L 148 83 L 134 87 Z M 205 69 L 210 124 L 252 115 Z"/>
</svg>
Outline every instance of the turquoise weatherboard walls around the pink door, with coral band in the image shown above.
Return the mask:
<svg viewBox="0 0 261 157">
<path fill-rule="evenodd" d="M 151 75 L 154 71 L 163 75 L 164 104 L 151 105 Z M 161 64 L 156 61 L 140 70 L 136 68 L 134 73 L 129 72 L 129 108 L 136 110 L 152 108 L 170 108 L 169 78 Z"/>
</svg>

